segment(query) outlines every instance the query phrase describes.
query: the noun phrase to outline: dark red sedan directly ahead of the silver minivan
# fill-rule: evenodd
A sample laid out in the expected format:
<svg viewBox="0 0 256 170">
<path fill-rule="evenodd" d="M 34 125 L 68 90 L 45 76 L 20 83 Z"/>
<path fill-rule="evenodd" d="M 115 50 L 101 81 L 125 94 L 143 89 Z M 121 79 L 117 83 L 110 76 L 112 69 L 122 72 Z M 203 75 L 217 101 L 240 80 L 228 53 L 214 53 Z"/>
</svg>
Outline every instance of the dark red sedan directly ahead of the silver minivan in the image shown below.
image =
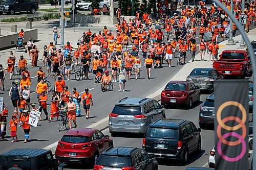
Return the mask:
<svg viewBox="0 0 256 170">
<path fill-rule="evenodd" d="M 186 81 L 170 81 L 161 93 L 161 105 L 187 105 L 200 102 L 200 88 Z"/>
</svg>

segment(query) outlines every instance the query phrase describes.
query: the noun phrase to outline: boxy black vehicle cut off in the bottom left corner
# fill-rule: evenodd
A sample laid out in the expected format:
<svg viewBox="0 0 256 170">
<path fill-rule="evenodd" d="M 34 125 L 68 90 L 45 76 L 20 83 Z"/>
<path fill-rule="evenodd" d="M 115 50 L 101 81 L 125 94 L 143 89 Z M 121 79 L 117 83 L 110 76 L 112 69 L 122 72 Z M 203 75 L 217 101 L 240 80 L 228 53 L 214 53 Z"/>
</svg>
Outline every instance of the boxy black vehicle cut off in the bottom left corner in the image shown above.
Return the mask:
<svg viewBox="0 0 256 170">
<path fill-rule="evenodd" d="M 58 169 L 58 161 L 52 151 L 43 149 L 14 149 L 0 154 L 0 170 L 16 169 Z M 63 169 L 60 165 L 59 169 Z"/>
</svg>

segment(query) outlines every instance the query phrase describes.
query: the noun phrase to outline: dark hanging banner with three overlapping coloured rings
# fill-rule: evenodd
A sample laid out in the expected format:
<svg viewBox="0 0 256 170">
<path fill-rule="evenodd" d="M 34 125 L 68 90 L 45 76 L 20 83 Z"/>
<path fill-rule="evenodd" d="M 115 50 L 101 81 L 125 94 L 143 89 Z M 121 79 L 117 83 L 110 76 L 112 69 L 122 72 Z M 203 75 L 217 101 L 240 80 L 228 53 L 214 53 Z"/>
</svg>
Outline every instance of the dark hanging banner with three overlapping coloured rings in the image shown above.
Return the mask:
<svg viewBox="0 0 256 170">
<path fill-rule="evenodd" d="M 248 80 L 214 82 L 215 169 L 248 169 Z"/>
</svg>

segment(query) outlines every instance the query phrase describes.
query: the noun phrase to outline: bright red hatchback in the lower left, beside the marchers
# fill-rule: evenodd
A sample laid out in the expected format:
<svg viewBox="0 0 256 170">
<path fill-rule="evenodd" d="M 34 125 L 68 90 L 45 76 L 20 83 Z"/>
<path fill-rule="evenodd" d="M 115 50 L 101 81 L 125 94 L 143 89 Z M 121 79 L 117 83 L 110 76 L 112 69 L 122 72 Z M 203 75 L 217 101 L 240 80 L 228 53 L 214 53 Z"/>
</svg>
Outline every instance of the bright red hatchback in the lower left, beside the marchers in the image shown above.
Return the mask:
<svg viewBox="0 0 256 170">
<path fill-rule="evenodd" d="M 109 135 L 97 129 L 74 128 L 66 132 L 58 141 L 56 158 L 59 162 L 87 162 L 94 165 L 99 155 L 113 146 Z"/>
</svg>

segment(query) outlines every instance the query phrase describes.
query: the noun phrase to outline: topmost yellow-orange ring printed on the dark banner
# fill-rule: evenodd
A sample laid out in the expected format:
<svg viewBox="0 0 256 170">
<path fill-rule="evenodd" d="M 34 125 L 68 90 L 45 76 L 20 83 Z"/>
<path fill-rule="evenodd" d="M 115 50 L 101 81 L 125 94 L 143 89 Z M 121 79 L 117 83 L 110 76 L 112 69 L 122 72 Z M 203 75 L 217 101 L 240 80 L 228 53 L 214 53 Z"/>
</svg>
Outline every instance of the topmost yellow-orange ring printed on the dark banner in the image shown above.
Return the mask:
<svg viewBox="0 0 256 170">
<path fill-rule="evenodd" d="M 218 111 L 217 111 L 217 122 L 219 123 L 219 125 L 220 125 L 223 129 L 225 129 L 225 130 L 227 130 L 227 131 L 235 131 L 235 130 L 238 130 L 239 128 L 241 128 L 242 125 L 238 124 L 237 126 L 230 127 L 230 126 L 225 125 L 225 124 L 222 122 L 222 119 L 221 119 L 222 110 L 223 110 L 225 107 L 230 106 L 230 105 L 237 106 L 237 107 L 241 110 L 241 112 L 242 112 L 242 122 L 245 124 L 246 118 L 247 118 L 246 110 L 245 110 L 244 106 L 243 106 L 241 103 L 236 102 L 236 101 L 228 101 L 228 102 L 225 102 L 225 103 L 223 103 L 223 104 L 219 107 L 219 109 L 218 109 Z"/>
</svg>

